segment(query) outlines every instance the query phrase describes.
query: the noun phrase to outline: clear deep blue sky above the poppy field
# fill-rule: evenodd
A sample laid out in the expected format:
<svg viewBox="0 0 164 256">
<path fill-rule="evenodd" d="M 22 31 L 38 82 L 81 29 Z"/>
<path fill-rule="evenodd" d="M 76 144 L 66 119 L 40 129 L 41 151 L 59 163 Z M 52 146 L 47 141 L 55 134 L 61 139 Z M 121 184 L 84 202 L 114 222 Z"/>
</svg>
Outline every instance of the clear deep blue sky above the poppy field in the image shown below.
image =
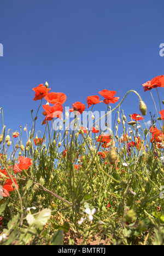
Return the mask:
<svg viewBox="0 0 164 256">
<path fill-rule="evenodd" d="M 31 109 L 36 113 L 40 103 L 33 101 L 32 88 L 46 81 L 51 91 L 67 95 L 63 107 L 80 101 L 87 108 L 87 96 L 103 89 L 115 90 L 121 100 L 133 89 L 147 104 L 145 121 L 150 111 L 156 114 L 142 84 L 164 74 L 163 0 L 1 0 L 0 5 L 0 107 L 7 129 L 31 128 Z M 160 111 L 156 90 L 151 92 Z M 164 100 L 163 89 L 159 92 Z M 128 118 L 140 113 L 138 105 L 130 94 L 121 109 Z"/>
</svg>

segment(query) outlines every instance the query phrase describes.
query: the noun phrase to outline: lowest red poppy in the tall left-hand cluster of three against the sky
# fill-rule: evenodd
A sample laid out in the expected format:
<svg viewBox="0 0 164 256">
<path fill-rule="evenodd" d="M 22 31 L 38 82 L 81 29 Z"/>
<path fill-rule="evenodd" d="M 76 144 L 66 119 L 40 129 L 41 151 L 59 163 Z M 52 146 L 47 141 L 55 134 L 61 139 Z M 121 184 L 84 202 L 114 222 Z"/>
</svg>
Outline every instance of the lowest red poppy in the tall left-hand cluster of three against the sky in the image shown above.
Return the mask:
<svg viewBox="0 0 164 256">
<path fill-rule="evenodd" d="M 46 112 L 46 117 L 43 121 L 43 124 L 46 124 L 46 121 L 51 121 L 53 118 L 62 119 L 63 107 L 61 103 L 57 102 L 52 107 L 50 107 L 49 105 L 43 105 L 43 108 Z"/>
</svg>

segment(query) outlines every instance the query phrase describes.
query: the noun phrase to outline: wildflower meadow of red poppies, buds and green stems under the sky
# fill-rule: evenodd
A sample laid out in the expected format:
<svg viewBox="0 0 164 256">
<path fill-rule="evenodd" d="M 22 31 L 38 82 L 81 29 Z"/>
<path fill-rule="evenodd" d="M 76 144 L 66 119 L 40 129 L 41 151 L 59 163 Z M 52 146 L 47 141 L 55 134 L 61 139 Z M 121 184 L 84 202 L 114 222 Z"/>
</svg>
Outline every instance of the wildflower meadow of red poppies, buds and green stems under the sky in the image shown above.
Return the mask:
<svg viewBox="0 0 164 256">
<path fill-rule="evenodd" d="M 0 245 L 164 245 L 164 76 L 140 86 L 155 115 L 135 90 L 67 102 L 47 82 L 31 124 L 6 127 L 0 106 Z"/>
</svg>

